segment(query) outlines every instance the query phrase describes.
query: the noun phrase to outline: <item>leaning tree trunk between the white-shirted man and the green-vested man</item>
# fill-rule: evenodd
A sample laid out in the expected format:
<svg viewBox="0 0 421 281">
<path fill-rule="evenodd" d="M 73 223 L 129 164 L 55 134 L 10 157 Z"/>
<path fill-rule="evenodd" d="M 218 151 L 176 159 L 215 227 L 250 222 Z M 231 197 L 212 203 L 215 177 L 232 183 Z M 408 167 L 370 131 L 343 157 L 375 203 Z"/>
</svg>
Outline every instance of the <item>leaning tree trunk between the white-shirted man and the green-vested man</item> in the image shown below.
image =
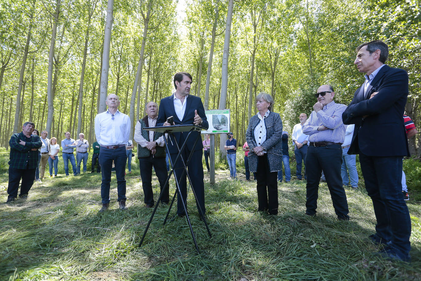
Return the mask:
<svg viewBox="0 0 421 281">
<path fill-rule="evenodd" d="M 153 4 L 153 0 L 149 0 L 148 11 L 147 11 L 146 16 L 144 15 L 144 13 L 142 11 L 142 16 L 143 16 L 143 21 L 144 21 L 142 46 L 141 46 L 141 49 L 140 49 L 140 56 L 139 56 L 139 62 L 137 64 L 136 78 L 134 80 L 133 91 L 132 91 L 132 95 L 131 95 L 131 99 L 130 99 L 130 120 L 131 120 L 132 123 L 135 120 L 134 103 L 135 103 L 135 99 L 136 99 L 136 91 L 137 91 L 138 87 L 140 89 L 141 85 L 142 85 L 143 55 L 144 55 L 144 51 L 145 51 L 146 37 L 148 35 L 149 17 L 150 17 L 151 10 L 152 10 L 152 4 Z M 140 119 L 140 116 L 139 116 L 140 92 L 138 94 L 137 99 L 138 100 L 137 100 L 137 107 L 136 107 L 136 117 Z M 133 139 L 133 133 L 134 133 L 134 128 L 133 128 L 133 126 L 131 126 L 129 139 Z"/>
</svg>

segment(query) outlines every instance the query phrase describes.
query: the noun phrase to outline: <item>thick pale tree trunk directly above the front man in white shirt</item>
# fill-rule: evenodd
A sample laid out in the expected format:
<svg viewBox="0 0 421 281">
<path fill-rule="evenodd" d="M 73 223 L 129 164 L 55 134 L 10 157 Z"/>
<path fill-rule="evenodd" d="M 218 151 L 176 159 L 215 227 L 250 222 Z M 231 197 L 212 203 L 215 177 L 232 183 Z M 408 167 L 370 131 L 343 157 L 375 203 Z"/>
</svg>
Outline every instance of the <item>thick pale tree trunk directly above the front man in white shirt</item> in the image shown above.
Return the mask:
<svg viewBox="0 0 421 281">
<path fill-rule="evenodd" d="M 104 48 L 102 53 L 102 68 L 101 68 L 101 92 L 99 95 L 98 113 L 107 110 L 107 88 L 108 88 L 108 71 L 109 71 L 109 47 L 111 45 L 111 29 L 113 21 L 114 0 L 108 0 L 107 4 L 107 18 L 104 29 Z"/>
</svg>

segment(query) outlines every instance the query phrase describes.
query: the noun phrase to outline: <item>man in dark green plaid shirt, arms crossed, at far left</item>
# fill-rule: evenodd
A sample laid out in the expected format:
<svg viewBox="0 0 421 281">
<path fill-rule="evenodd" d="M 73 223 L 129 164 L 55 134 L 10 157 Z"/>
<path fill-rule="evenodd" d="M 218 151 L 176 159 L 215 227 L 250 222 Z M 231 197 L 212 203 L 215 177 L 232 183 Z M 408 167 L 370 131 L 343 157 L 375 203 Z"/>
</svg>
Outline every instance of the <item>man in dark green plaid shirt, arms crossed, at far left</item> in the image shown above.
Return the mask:
<svg viewBox="0 0 421 281">
<path fill-rule="evenodd" d="M 26 199 L 34 183 L 35 169 L 38 165 L 38 148 L 43 144 L 37 135 L 33 135 L 35 124 L 25 122 L 20 133 L 13 134 L 10 138 L 9 185 L 6 203 L 15 201 L 18 196 L 19 182 L 21 193 L 19 197 Z"/>
</svg>

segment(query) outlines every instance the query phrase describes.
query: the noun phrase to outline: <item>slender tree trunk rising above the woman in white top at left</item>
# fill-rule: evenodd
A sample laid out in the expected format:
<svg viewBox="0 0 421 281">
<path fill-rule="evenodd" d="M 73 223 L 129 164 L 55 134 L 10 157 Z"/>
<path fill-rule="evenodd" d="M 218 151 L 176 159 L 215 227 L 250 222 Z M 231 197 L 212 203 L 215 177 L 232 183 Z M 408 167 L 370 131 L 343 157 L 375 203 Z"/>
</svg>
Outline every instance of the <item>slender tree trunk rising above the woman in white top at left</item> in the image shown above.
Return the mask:
<svg viewBox="0 0 421 281">
<path fill-rule="evenodd" d="M 59 22 L 60 14 L 60 1 L 57 0 L 56 13 L 54 14 L 53 32 L 51 34 L 50 53 L 48 56 L 48 83 L 47 83 L 47 96 L 48 96 L 48 117 L 46 130 L 51 132 L 51 125 L 53 123 L 54 115 L 54 93 L 53 93 L 53 60 L 54 60 L 54 47 L 56 45 L 57 24 Z"/>
</svg>

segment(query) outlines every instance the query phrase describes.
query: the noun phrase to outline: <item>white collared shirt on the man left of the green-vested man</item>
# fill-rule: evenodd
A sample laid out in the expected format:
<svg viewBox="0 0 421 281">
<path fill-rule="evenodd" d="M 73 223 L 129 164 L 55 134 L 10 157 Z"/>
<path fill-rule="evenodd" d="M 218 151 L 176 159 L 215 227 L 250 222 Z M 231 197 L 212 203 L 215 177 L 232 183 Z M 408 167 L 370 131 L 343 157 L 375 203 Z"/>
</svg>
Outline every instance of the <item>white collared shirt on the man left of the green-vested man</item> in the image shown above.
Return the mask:
<svg viewBox="0 0 421 281">
<path fill-rule="evenodd" d="M 104 111 L 95 116 L 95 135 L 100 145 L 125 145 L 129 140 L 131 121 L 128 115 L 117 110 Z"/>
</svg>

